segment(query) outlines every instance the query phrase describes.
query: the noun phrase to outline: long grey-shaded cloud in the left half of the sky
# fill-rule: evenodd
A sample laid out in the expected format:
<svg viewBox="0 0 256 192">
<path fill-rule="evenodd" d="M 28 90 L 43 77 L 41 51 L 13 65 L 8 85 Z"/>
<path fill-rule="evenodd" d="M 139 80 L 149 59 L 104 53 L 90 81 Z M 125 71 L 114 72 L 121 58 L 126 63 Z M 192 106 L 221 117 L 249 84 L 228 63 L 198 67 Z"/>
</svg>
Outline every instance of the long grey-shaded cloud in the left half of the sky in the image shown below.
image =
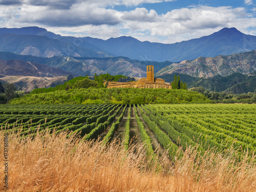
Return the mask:
<svg viewBox="0 0 256 192">
<path fill-rule="evenodd" d="M 69 10 L 54 10 L 47 7 L 24 6 L 23 15 L 17 19 L 20 23 L 45 24 L 56 27 L 84 25 L 116 25 L 119 14 L 113 9 L 104 9 L 88 4 L 72 5 Z"/>
</svg>

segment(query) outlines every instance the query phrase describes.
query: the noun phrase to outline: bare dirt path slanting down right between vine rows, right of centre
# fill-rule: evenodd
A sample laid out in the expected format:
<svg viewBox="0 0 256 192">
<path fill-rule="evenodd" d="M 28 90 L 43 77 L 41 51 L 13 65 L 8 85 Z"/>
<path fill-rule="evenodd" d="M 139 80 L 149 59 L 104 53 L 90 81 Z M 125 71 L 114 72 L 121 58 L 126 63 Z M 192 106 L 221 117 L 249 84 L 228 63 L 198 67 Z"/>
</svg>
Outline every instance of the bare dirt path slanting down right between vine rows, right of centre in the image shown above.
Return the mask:
<svg viewBox="0 0 256 192">
<path fill-rule="evenodd" d="M 154 151 L 157 150 L 157 153 L 159 153 L 159 155 L 162 156 L 164 154 L 164 152 L 165 152 L 164 148 L 159 144 L 155 134 L 150 130 L 148 125 L 143 120 L 142 115 L 140 114 L 140 111 L 139 111 L 138 108 L 137 108 L 137 111 L 138 111 L 138 115 L 139 115 L 141 121 L 143 122 L 143 125 L 144 125 L 144 128 L 145 128 L 145 131 L 146 131 L 147 135 L 150 136 L 150 138 L 151 138 L 153 150 Z"/>
</svg>

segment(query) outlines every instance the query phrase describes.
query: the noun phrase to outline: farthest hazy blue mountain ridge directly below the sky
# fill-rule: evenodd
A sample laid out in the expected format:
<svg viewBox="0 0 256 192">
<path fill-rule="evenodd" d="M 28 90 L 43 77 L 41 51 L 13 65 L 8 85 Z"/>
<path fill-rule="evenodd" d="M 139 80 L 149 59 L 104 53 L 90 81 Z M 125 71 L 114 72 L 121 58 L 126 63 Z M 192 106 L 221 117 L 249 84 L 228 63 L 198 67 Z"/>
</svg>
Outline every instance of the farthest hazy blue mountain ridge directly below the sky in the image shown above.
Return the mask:
<svg viewBox="0 0 256 192">
<path fill-rule="evenodd" d="M 11 42 L 10 42 L 10 39 Z M 139 41 L 121 36 L 102 40 L 92 37 L 67 37 L 37 27 L 0 29 L 0 51 L 51 57 L 54 55 L 81 57 L 124 56 L 137 60 L 182 61 L 215 57 L 256 49 L 256 36 L 246 35 L 236 28 L 222 30 L 175 44 Z"/>
</svg>

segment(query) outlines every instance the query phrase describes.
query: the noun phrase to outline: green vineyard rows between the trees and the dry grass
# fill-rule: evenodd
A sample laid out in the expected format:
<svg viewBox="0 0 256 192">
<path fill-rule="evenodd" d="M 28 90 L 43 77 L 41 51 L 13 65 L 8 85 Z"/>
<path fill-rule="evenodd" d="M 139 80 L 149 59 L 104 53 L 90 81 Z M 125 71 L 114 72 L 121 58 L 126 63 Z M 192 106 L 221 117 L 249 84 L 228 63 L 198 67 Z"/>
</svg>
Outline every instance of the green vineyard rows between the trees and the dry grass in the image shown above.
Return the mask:
<svg viewBox="0 0 256 192">
<path fill-rule="evenodd" d="M 255 151 L 255 119 L 256 105 L 249 104 L 49 104 L 0 109 L 0 126 L 7 133 L 26 137 L 55 130 L 82 140 L 99 138 L 105 144 L 118 138 L 127 149 L 133 123 L 136 140 L 146 143 L 147 156 L 155 156 L 156 139 L 170 158 L 188 146 L 197 146 L 201 153 L 213 147 L 219 152 L 230 147 Z"/>
</svg>

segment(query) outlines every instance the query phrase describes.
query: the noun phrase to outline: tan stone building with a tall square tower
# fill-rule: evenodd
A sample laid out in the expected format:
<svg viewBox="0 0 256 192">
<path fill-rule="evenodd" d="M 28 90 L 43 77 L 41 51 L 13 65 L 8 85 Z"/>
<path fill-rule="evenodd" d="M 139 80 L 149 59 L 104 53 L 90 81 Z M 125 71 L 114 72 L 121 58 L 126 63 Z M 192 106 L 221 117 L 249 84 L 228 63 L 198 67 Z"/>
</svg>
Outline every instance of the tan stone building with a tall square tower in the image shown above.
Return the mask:
<svg viewBox="0 0 256 192">
<path fill-rule="evenodd" d="M 154 66 L 146 66 L 146 77 L 132 82 L 114 82 L 106 81 L 104 84 L 108 88 L 164 88 L 172 89 L 170 83 L 166 83 L 164 79 L 154 78 Z"/>
</svg>

